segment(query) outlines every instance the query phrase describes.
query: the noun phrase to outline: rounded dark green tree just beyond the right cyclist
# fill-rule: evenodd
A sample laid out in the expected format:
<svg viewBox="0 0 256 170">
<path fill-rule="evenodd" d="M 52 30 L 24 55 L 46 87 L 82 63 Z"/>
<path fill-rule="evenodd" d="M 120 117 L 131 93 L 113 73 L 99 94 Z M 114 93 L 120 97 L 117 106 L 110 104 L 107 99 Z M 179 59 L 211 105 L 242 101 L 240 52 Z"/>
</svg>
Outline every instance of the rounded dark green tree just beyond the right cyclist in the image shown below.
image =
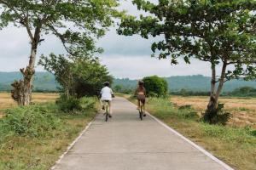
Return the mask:
<svg viewBox="0 0 256 170">
<path fill-rule="evenodd" d="M 168 92 L 168 84 L 164 78 L 157 76 L 144 77 L 143 82 L 149 96 L 155 95 L 156 97 L 166 97 Z"/>
</svg>

